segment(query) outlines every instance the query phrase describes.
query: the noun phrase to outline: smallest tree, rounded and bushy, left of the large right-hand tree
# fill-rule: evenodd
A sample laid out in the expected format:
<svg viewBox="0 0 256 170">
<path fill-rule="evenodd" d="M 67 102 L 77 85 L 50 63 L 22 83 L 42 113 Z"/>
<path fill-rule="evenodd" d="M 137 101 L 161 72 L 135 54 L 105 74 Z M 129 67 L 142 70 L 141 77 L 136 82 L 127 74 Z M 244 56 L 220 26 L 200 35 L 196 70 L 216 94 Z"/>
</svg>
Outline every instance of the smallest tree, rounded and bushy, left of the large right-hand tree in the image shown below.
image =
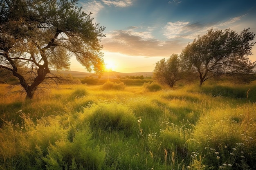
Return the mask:
<svg viewBox="0 0 256 170">
<path fill-rule="evenodd" d="M 181 78 L 180 58 L 172 54 L 168 60 L 162 59 L 156 63 L 153 79 L 157 82 L 168 84 L 171 88 Z"/>
</svg>

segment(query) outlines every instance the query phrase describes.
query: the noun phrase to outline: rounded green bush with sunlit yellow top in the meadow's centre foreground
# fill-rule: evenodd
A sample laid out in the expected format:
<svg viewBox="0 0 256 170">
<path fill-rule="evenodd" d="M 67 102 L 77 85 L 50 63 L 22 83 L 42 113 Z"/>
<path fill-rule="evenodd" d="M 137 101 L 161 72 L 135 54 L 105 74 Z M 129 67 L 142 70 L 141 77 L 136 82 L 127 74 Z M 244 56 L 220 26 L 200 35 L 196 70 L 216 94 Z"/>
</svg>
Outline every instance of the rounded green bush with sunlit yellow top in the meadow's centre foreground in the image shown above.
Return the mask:
<svg viewBox="0 0 256 170">
<path fill-rule="evenodd" d="M 117 130 L 130 134 L 136 123 L 132 110 L 123 104 L 102 103 L 93 105 L 90 109 L 85 108 L 84 113 L 90 114 L 88 120 L 92 129 Z"/>
</svg>

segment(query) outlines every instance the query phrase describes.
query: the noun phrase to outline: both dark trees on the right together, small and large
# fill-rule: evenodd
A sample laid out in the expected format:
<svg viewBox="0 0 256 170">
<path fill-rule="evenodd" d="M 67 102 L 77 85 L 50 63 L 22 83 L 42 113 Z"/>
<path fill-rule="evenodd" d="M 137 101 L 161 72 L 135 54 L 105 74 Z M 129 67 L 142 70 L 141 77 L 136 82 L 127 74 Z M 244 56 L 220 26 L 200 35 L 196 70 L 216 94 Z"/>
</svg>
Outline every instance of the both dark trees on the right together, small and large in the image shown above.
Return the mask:
<svg viewBox="0 0 256 170">
<path fill-rule="evenodd" d="M 232 77 L 236 82 L 249 83 L 255 79 L 256 62 L 249 60 L 255 34 L 244 29 L 240 34 L 226 29 L 213 29 L 198 36 L 167 60 L 156 63 L 153 79 L 173 87 L 180 80 L 198 79 L 200 86 L 213 77 Z"/>
</svg>

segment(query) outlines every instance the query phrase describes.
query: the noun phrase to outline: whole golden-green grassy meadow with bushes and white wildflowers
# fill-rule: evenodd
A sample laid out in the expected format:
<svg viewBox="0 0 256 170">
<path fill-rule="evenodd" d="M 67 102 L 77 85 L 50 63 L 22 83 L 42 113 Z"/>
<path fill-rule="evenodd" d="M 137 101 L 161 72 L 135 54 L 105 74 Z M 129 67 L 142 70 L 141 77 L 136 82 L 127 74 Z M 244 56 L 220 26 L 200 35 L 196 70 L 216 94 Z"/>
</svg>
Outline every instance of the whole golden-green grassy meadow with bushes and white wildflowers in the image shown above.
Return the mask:
<svg viewBox="0 0 256 170">
<path fill-rule="evenodd" d="M 134 80 L 136 81 L 136 80 Z M 0 170 L 254 170 L 256 82 L 0 84 Z"/>
</svg>

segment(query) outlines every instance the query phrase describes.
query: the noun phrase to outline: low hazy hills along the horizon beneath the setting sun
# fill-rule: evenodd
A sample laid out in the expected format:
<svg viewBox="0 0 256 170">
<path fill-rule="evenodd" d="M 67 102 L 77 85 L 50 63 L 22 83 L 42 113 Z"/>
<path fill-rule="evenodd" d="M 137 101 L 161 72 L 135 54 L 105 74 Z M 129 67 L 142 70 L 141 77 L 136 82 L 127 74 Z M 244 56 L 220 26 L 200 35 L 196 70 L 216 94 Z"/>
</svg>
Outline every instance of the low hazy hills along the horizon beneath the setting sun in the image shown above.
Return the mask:
<svg viewBox="0 0 256 170">
<path fill-rule="evenodd" d="M 61 75 L 72 75 L 73 77 L 83 78 L 83 77 L 99 77 L 99 75 L 95 73 L 86 73 L 79 71 L 51 71 L 53 74 L 61 74 Z M 105 72 L 101 76 L 101 78 L 117 78 L 117 77 L 126 77 L 126 76 L 141 76 L 143 77 L 152 77 L 152 72 L 138 72 L 138 73 L 119 73 L 116 71 Z"/>
</svg>

